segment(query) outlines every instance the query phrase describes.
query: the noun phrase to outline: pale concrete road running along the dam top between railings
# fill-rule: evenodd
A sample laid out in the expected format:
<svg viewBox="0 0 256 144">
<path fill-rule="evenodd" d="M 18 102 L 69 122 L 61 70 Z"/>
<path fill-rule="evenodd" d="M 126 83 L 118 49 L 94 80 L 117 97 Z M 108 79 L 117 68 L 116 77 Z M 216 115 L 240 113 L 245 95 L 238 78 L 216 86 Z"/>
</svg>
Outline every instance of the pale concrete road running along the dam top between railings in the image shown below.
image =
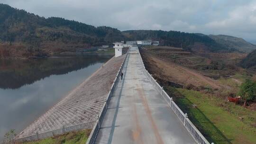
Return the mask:
<svg viewBox="0 0 256 144">
<path fill-rule="evenodd" d="M 138 53 L 130 48 L 95 144 L 195 144 L 146 78 Z"/>
</svg>

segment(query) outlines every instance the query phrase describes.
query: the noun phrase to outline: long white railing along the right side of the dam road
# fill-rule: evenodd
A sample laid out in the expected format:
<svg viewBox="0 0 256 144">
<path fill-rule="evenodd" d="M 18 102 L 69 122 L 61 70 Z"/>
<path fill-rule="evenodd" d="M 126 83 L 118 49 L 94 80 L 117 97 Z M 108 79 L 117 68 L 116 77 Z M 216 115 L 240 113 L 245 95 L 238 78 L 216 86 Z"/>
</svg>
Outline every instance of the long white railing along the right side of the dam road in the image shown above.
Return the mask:
<svg viewBox="0 0 256 144">
<path fill-rule="evenodd" d="M 170 108 L 174 111 L 175 115 L 180 119 L 182 122 L 183 126 L 187 129 L 189 134 L 193 137 L 193 139 L 198 143 L 198 144 L 210 144 L 207 139 L 201 134 L 201 132 L 192 124 L 192 122 L 189 120 L 187 113 L 184 114 L 183 111 L 175 104 L 173 101 L 173 98 L 170 98 L 170 96 L 165 92 L 163 87 L 158 84 L 155 79 L 152 77 L 152 75 L 146 70 L 145 65 L 143 63 L 143 60 L 140 56 L 140 61 L 142 63 L 142 66 L 144 67 L 144 73 L 150 83 L 152 83 L 153 86 L 155 86 L 155 89 L 162 95 L 162 97 L 165 99 L 165 101 L 168 103 Z M 211 143 L 213 144 L 213 143 Z"/>
</svg>

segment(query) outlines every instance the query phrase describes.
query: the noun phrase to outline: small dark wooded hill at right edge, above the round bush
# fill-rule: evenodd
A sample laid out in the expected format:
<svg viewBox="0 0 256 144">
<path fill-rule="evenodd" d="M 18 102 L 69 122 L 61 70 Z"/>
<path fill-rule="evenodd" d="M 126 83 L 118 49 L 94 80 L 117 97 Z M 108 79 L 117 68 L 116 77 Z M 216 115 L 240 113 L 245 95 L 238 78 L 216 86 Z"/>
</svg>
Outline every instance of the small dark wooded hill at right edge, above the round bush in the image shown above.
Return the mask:
<svg viewBox="0 0 256 144">
<path fill-rule="evenodd" d="M 248 54 L 247 57 L 242 60 L 241 66 L 256 71 L 256 50 Z"/>
</svg>

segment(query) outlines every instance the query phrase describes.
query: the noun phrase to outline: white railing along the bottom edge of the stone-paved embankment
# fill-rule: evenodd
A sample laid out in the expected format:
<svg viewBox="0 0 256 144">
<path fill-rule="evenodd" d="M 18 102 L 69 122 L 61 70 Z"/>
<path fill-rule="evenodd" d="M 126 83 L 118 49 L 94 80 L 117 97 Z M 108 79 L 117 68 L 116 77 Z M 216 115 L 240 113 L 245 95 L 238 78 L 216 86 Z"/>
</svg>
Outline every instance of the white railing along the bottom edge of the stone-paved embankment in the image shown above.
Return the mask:
<svg viewBox="0 0 256 144">
<path fill-rule="evenodd" d="M 67 127 L 62 127 L 59 129 L 55 129 L 55 130 L 51 130 L 51 131 L 47 131 L 47 132 L 43 132 L 43 133 L 36 133 L 35 135 L 29 135 L 26 137 L 21 137 L 18 139 L 15 139 L 14 142 L 28 142 L 28 141 L 37 141 L 39 139 L 43 139 L 46 137 L 51 137 L 51 136 L 55 136 L 55 135 L 61 135 L 67 132 L 73 132 L 73 131 L 78 131 L 78 130 L 82 130 L 82 129 L 90 129 L 94 126 L 96 120 L 94 121 L 90 121 L 90 122 L 86 122 L 86 123 L 82 123 L 82 124 L 77 124 L 77 125 L 73 125 L 73 126 L 67 126 Z"/>
</svg>

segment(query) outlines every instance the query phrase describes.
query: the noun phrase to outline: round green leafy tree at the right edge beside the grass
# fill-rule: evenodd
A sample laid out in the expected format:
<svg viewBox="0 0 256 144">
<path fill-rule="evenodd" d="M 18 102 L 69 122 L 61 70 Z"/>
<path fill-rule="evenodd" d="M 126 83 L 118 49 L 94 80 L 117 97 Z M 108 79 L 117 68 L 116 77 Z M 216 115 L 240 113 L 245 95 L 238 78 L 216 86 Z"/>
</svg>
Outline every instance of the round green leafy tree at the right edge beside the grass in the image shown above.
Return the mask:
<svg viewBox="0 0 256 144">
<path fill-rule="evenodd" d="M 244 99 L 244 106 L 246 106 L 247 101 L 256 99 L 256 82 L 246 80 L 241 84 L 238 95 Z"/>
</svg>

